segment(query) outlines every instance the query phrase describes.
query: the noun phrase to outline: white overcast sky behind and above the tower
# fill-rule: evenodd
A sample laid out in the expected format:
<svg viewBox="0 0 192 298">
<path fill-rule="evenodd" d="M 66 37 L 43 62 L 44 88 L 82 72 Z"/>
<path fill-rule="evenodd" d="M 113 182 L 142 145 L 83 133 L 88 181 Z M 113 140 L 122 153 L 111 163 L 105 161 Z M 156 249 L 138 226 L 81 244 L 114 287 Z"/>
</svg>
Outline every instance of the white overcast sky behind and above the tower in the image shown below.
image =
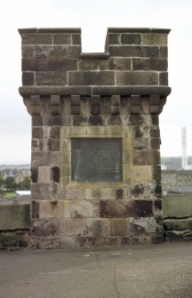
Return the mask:
<svg viewBox="0 0 192 298">
<path fill-rule="evenodd" d="M 82 28 L 83 52 L 103 52 L 108 27 L 171 28 L 172 94 L 160 116 L 161 155 L 181 155 L 181 127 L 186 126 L 188 156 L 192 156 L 191 0 L 6 0 L 1 3 L 0 25 L 0 164 L 30 163 L 31 119 L 18 93 L 18 28 Z"/>
</svg>

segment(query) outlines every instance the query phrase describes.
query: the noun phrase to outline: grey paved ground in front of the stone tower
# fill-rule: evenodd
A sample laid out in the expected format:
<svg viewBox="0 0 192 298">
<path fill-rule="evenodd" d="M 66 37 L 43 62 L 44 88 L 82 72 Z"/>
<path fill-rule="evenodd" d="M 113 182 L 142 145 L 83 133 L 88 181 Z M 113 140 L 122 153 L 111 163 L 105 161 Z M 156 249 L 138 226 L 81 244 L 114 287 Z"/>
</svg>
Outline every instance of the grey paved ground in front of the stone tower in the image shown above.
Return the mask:
<svg viewBox="0 0 192 298">
<path fill-rule="evenodd" d="M 0 252 L 0 298 L 191 298 L 192 243 Z"/>
</svg>

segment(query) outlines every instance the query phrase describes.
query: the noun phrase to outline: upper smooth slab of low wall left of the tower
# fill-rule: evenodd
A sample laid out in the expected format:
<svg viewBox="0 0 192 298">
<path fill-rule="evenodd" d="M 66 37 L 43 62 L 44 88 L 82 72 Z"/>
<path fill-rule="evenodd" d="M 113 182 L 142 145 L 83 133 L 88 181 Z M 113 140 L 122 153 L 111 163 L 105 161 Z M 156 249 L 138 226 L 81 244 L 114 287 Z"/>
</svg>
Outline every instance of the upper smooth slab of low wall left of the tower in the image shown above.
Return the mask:
<svg viewBox="0 0 192 298">
<path fill-rule="evenodd" d="M 28 230 L 30 205 L 0 205 L 0 230 Z"/>
</svg>

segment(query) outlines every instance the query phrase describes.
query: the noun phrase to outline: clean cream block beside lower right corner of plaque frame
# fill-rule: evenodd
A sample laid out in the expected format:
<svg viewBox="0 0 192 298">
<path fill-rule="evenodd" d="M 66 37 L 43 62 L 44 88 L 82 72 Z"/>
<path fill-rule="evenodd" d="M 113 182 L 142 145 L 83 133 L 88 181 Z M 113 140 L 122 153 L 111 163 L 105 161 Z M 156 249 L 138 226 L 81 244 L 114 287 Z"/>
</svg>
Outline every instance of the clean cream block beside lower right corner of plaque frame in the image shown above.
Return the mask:
<svg viewBox="0 0 192 298">
<path fill-rule="evenodd" d="M 135 182 L 153 181 L 153 166 L 151 165 L 134 165 L 133 173 Z"/>
</svg>

